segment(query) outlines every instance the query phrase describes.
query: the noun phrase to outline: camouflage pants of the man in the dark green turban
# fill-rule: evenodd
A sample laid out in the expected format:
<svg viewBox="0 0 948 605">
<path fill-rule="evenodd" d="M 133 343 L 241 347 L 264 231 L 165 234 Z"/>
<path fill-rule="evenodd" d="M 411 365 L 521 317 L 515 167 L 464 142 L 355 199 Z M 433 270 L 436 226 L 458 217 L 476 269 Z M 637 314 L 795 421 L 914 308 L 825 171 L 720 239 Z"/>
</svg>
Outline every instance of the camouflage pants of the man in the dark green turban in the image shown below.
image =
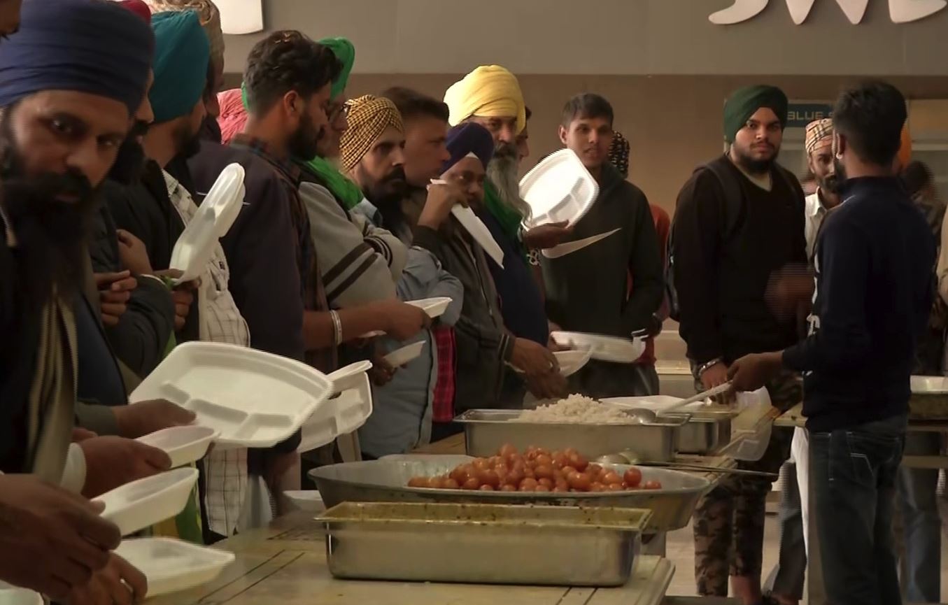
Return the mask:
<svg viewBox="0 0 948 605">
<path fill-rule="evenodd" d="M 702 386 L 696 381 L 696 388 Z M 798 375 L 782 372 L 767 384 L 781 412 L 803 398 Z M 790 457 L 793 430 L 775 427 L 770 445 L 757 462 L 738 468 L 776 473 Z M 763 561 L 764 515 L 773 484 L 757 477 L 725 475 L 695 507 L 695 581 L 701 596 L 727 596 L 730 576 L 759 578 Z"/>
</svg>

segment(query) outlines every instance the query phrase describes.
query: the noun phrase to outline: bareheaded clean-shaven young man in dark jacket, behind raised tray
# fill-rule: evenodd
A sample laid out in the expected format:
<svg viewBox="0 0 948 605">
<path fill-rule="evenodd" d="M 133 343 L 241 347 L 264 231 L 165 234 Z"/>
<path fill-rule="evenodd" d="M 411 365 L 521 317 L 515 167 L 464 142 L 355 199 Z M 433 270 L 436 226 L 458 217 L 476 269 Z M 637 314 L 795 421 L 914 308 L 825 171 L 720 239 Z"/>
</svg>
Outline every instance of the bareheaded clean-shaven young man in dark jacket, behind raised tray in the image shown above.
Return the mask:
<svg viewBox="0 0 948 605">
<path fill-rule="evenodd" d="M 564 330 L 629 339 L 650 328 L 665 292 L 648 200 L 609 161 L 612 119 L 609 101 L 583 94 L 566 103 L 559 127 L 562 143 L 599 183 L 599 196 L 568 241 L 611 235 L 565 256 L 541 254 L 540 266 L 550 321 Z M 659 385 L 654 365 L 593 360 L 571 376 L 570 386 L 600 398 L 658 394 Z"/>
</svg>

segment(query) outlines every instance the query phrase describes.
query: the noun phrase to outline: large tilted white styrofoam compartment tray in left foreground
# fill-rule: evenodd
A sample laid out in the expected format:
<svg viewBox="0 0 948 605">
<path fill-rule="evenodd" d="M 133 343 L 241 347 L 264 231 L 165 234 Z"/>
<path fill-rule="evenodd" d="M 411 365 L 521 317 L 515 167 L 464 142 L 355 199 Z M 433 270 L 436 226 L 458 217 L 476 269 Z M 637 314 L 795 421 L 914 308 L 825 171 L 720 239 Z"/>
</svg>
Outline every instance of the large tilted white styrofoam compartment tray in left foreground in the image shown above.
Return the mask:
<svg viewBox="0 0 948 605">
<path fill-rule="evenodd" d="M 300 361 L 234 344 L 185 342 L 131 400 L 164 398 L 191 410 L 196 424 L 220 432 L 215 448 L 270 448 L 298 431 L 332 390 L 332 380 Z"/>
</svg>

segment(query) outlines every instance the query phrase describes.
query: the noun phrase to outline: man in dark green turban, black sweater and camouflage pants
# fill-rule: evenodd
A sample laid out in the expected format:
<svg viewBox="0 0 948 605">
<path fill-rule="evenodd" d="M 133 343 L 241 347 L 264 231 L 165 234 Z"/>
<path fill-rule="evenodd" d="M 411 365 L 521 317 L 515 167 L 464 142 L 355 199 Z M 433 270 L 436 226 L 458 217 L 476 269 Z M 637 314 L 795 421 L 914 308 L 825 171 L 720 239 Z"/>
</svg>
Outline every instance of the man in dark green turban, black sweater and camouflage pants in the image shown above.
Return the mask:
<svg viewBox="0 0 948 605">
<path fill-rule="evenodd" d="M 795 313 L 775 313 L 769 284 L 807 264 L 803 190 L 776 163 L 787 123 L 787 96 L 748 86 L 724 105 L 727 153 L 699 167 L 684 184 L 671 233 L 669 287 L 687 344 L 696 389 L 727 380 L 728 367 L 750 353 L 796 342 Z M 799 376 L 767 385 L 786 411 L 801 401 Z M 775 429 L 763 457 L 740 467 L 777 472 L 790 455 L 791 433 Z M 702 596 L 727 596 L 728 577 L 743 603 L 761 602 L 764 504 L 771 482 L 730 478 L 695 509 L 695 574 Z"/>
</svg>

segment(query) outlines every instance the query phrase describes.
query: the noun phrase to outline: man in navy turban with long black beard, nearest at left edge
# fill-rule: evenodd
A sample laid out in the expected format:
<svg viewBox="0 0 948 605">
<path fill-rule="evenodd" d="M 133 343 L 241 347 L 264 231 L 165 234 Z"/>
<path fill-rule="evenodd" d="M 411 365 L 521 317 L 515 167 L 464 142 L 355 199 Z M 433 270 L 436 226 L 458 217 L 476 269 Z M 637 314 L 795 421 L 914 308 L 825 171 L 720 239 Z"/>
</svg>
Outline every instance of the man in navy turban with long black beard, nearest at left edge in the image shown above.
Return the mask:
<svg viewBox="0 0 948 605">
<path fill-rule="evenodd" d="M 9 520 L 0 578 L 95 603 L 116 589 L 128 595 L 124 580 L 140 599 L 144 578 L 109 555 L 118 528 L 50 484 L 90 495 L 103 478 L 122 483 L 170 466 L 166 454 L 131 440 L 69 447 L 75 301 L 87 276 L 82 226 L 144 97 L 153 37 L 118 4 L 27 0 L 19 31 L 2 45 L 0 280 L 9 287 L 0 295 L 0 470 L 14 474 L 0 479 Z M 105 565 L 109 573 L 99 573 Z"/>
</svg>

